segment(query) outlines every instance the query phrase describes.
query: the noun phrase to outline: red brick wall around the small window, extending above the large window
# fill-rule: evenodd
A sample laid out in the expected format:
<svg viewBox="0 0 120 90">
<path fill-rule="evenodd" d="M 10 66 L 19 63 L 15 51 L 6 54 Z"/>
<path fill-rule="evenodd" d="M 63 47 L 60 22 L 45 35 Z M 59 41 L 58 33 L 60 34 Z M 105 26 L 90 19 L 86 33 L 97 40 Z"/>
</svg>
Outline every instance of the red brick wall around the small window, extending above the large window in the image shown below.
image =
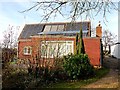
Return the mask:
<svg viewBox="0 0 120 90">
<path fill-rule="evenodd" d="M 36 56 L 40 56 L 40 44 L 41 41 L 67 41 L 71 40 L 74 41 L 74 50 L 76 48 L 76 40 L 75 37 L 61 37 L 61 36 L 48 36 L 48 37 L 33 37 L 32 39 L 29 40 L 19 40 L 18 43 L 18 58 L 20 59 L 30 59 L 33 61 L 33 59 L 36 59 Z M 25 46 L 31 46 L 32 47 L 32 54 L 31 55 L 24 55 L 23 54 L 23 49 Z"/>
</svg>

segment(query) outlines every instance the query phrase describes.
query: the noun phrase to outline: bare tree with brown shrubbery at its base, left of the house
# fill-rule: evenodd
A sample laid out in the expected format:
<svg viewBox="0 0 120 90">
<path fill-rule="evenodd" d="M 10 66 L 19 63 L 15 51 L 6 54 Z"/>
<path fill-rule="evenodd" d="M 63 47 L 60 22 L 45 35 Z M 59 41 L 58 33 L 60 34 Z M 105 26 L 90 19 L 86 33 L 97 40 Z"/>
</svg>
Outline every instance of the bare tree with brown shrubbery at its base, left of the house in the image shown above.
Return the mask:
<svg viewBox="0 0 120 90">
<path fill-rule="evenodd" d="M 8 62 L 13 60 L 17 55 L 17 33 L 19 28 L 9 25 L 3 33 L 2 60 Z"/>
</svg>

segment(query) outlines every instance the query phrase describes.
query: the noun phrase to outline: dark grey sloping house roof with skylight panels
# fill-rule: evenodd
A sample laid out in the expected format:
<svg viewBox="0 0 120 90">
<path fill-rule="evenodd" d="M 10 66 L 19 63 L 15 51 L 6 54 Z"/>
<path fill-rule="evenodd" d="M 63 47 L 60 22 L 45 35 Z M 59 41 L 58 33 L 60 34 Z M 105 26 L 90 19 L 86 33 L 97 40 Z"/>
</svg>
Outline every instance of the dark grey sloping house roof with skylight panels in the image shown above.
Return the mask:
<svg viewBox="0 0 120 90">
<path fill-rule="evenodd" d="M 82 24 L 81 24 L 82 23 Z M 83 33 L 90 30 L 90 22 L 61 22 L 61 23 L 41 23 L 26 24 L 19 36 L 19 39 L 28 39 L 34 35 L 75 35 L 82 28 Z"/>
</svg>

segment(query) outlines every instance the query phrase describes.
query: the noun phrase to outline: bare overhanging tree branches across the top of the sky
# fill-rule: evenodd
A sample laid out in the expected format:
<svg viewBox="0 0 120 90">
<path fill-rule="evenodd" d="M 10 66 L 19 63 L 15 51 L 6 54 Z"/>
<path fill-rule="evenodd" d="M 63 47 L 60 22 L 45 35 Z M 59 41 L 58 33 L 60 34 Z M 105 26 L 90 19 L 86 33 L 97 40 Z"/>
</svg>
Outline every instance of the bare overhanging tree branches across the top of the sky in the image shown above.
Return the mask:
<svg viewBox="0 0 120 90">
<path fill-rule="evenodd" d="M 63 17 L 67 16 L 67 18 L 75 21 L 83 14 L 85 14 L 86 18 L 92 18 L 99 13 L 103 15 L 104 20 L 106 20 L 106 14 L 118 8 L 112 0 L 42 0 L 34 2 L 33 6 L 22 11 L 22 13 L 32 9 L 36 11 L 40 10 L 40 12 L 43 13 L 41 21 L 48 21 L 51 17 L 56 17 L 58 14 Z"/>
</svg>

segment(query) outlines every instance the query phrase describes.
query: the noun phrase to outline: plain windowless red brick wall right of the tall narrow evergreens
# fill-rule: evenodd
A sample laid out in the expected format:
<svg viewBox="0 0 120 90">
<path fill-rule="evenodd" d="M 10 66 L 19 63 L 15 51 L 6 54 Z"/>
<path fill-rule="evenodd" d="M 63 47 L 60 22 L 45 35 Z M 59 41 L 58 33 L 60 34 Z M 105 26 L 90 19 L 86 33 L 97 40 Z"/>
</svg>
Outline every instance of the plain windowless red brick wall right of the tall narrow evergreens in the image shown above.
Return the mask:
<svg viewBox="0 0 120 90">
<path fill-rule="evenodd" d="M 100 38 L 84 38 L 85 52 L 94 66 L 100 66 Z"/>
</svg>

